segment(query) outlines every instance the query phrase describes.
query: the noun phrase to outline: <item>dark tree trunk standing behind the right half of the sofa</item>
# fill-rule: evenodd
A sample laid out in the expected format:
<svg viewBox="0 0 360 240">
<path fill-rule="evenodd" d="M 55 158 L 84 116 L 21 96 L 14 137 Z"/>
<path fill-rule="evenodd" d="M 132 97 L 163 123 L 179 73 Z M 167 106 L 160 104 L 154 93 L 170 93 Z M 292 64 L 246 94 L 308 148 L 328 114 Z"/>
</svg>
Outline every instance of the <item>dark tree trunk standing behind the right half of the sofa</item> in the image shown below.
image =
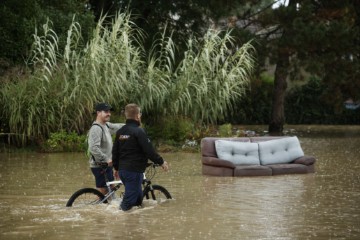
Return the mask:
<svg viewBox="0 0 360 240">
<path fill-rule="evenodd" d="M 270 135 L 282 135 L 284 129 L 284 101 L 287 88 L 286 79 L 288 77 L 289 52 L 279 49 L 278 61 L 275 69 L 273 105 L 269 124 Z"/>
</svg>

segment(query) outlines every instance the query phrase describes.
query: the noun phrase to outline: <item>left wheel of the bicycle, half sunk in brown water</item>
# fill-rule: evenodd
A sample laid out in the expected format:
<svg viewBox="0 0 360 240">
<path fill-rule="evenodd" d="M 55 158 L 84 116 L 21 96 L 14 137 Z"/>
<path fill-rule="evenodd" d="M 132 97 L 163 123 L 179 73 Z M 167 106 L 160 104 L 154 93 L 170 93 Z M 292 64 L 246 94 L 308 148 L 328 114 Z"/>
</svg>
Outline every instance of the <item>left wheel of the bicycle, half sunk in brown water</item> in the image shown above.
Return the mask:
<svg viewBox="0 0 360 240">
<path fill-rule="evenodd" d="M 67 207 L 99 204 L 105 198 L 104 194 L 94 188 L 83 188 L 75 192 L 66 203 Z M 107 200 L 104 201 L 107 203 Z"/>
</svg>

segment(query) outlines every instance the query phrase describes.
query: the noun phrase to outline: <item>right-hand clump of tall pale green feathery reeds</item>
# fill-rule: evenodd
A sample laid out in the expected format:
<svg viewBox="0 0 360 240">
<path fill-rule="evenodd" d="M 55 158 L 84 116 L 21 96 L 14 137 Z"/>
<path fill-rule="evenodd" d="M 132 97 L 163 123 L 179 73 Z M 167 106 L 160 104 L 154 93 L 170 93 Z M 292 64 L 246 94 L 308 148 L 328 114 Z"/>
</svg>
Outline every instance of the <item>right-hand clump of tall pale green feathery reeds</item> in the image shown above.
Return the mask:
<svg viewBox="0 0 360 240">
<path fill-rule="evenodd" d="M 174 114 L 214 122 L 232 110 L 232 102 L 245 94 L 254 58 L 253 47 L 234 51 L 230 32 L 209 30 L 204 39 L 188 41 L 184 59 L 174 72 L 171 109 Z"/>
</svg>

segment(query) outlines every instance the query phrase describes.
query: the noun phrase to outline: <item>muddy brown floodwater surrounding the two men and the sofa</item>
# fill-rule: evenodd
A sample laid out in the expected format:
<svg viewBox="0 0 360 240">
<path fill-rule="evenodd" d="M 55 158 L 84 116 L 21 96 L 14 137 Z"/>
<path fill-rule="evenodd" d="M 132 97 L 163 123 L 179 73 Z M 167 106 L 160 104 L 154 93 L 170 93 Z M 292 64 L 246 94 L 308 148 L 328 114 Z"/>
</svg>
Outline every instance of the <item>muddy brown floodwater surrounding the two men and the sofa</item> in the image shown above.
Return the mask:
<svg viewBox="0 0 360 240">
<path fill-rule="evenodd" d="M 0 238 L 360 239 L 359 128 L 334 128 L 295 131 L 315 174 L 207 177 L 200 154 L 163 154 L 171 171 L 153 182 L 174 199 L 131 213 L 65 207 L 94 185 L 84 154 L 1 154 Z"/>
</svg>

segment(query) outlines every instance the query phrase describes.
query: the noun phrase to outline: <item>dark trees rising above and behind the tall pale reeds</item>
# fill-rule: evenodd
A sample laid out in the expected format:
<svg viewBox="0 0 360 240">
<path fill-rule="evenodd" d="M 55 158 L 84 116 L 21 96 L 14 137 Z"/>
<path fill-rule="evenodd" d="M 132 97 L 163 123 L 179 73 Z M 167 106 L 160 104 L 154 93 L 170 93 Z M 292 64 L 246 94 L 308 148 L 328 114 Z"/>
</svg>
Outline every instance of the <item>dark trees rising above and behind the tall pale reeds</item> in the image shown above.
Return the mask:
<svg viewBox="0 0 360 240">
<path fill-rule="evenodd" d="M 281 133 L 286 123 L 289 86 L 316 79 L 321 91 L 312 101 L 333 109 L 334 114 L 344 111 L 347 99 L 360 99 L 360 1 L 356 0 L 151 0 L 146 4 L 139 0 L 3 0 L 0 21 L 6 24 L 0 26 L 0 75 L 29 60 L 35 28 L 41 35 L 42 26 L 52 23 L 57 47 L 65 51 L 75 16 L 82 33 L 76 46 L 82 49 L 99 21 L 112 28 L 119 10 L 130 12 L 132 22 L 142 29 L 148 59 L 161 54 L 161 46 L 153 43 L 164 36 L 171 36 L 174 52 L 181 56 L 175 59 L 185 58 L 189 36 L 202 42 L 209 27 L 232 30 L 230 51 L 252 40 L 257 53 L 252 86 L 263 86 L 258 83 L 264 72 L 273 79 L 272 102 L 265 103 L 271 110 L 264 120 L 270 132 Z M 177 67 L 181 61 L 173 64 Z M 244 108 L 241 104 L 232 102 L 237 109 Z"/>
</svg>

